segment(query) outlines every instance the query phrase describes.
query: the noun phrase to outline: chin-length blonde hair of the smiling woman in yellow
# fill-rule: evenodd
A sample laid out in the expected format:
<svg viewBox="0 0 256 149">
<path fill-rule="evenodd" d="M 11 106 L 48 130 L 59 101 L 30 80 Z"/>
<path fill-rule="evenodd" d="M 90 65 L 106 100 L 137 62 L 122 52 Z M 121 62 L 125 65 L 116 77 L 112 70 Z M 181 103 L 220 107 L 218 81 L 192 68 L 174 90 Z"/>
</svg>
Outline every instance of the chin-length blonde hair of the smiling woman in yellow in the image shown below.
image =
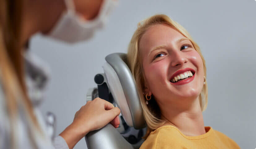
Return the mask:
<svg viewBox="0 0 256 149">
<path fill-rule="evenodd" d="M 202 56 L 199 46 L 192 39 L 189 33 L 179 23 L 175 22 L 174 20 L 169 18 L 167 15 L 154 15 L 138 23 L 138 28 L 134 32 L 128 46 L 127 59 L 128 59 L 128 66 L 132 72 L 132 75 L 137 85 L 137 90 L 140 96 L 143 115 L 148 128 L 144 138 L 147 138 L 151 131 L 155 130 L 156 128 L 158 128 L 159 126 L 162 126 L 165 123 L 165 121 L 161 119 L 161 112 L 155 100 L 153 100 L 153 103 L 150 102 L 148 105 L 146 105 L 146 99 L 143 95 L 143 90 L 145 89 L 145 79 L 143 75 L 143 67 L 141 62 L 141 50 L 139 47 L 139 43 L 142 35 L 148 30 L 148 28 L 158 24 L 170 25 L 171 28 L 174 28 L 175 30 L 180 32 L 183 36 L 187 37 L 191 41 L 194 48 L 202 58 L 203 67 L 204 67 L 204 76 L 206 77 L 205 60 Z M 199 95 L 199 103 L 201 106 L 201 110 L 204 111 L 208 103 L 207 82 L 203 86 L 203 89 Z"/>
</svg>

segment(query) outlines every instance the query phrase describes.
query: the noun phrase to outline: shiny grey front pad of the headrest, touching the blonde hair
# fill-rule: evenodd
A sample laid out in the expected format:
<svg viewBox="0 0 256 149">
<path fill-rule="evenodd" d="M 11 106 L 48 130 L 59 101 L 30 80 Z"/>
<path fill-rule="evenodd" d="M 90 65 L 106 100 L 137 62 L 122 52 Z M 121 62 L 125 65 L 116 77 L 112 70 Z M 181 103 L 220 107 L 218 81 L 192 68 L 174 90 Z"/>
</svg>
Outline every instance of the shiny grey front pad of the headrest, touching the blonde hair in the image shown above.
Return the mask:
<svg viewBox="0 0 256 149">
<path fill-rule="evenodd" d="M 133 79 L 132 73 L 127 66 L 127 55 L 125 53 L 112 53 L 106 56 L 106 62 L 115 70 L 118 79 L 121 83 L 122 91 L 127 101 L 130 110 L 130 117 L 125 119 L 132 119 L 133 127 L 141 129 L 145 127 L 145 121 L 142 113 L 142 107 L 137 93 L 137 87 Z M 115 92 L 113 87 L 110 87 L 111 92 Z M 115 99 L 115 97 L 114 97 Z M 118 100 L 118 99 L 115 99 Z M 125 101 L 125 100 L 123 100 Z M 125 103 L 126 104 L 126 103 Z M 120 107 L 119 107 L 120 108 Z M 122 113 L 122 109 L 121 113 Z"/>
</svg>

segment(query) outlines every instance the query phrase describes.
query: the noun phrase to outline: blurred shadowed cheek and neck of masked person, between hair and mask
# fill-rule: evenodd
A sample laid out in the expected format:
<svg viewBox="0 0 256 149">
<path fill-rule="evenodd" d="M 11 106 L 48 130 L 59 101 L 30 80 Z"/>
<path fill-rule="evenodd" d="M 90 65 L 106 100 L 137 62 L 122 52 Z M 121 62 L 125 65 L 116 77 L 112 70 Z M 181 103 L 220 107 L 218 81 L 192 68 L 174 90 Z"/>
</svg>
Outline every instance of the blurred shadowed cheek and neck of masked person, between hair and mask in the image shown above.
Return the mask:
<svg viewBox="0 0 256 149">
<path fill-rule="evenodd" d="M 37 32 L 49 32 L 65 9 L 63 0 L 24 0 L 22 45 Z"/>
</svg>

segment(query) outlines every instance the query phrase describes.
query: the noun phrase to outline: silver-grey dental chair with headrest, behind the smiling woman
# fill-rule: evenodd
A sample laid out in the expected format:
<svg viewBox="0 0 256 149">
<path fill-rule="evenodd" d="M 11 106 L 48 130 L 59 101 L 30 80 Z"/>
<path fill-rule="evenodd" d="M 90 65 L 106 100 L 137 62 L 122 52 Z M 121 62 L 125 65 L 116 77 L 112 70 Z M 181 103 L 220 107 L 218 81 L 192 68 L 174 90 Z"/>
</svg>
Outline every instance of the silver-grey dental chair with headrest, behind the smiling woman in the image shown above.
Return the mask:
<svg viewBox="0 0 256 149">
<path fill-rule="evenodd" d="M 85 136 L 88 149 L 137 149 L 143 143 L 145 121 L 137 87 L 127 66 L 125 53 L 113 53 L 105 58 L 104 74 L 94 77 L 98 87 L 90 88 L 87 101 L 100 97 L 119 107 L 118 128 L 107 124 Z"/>
</svg>

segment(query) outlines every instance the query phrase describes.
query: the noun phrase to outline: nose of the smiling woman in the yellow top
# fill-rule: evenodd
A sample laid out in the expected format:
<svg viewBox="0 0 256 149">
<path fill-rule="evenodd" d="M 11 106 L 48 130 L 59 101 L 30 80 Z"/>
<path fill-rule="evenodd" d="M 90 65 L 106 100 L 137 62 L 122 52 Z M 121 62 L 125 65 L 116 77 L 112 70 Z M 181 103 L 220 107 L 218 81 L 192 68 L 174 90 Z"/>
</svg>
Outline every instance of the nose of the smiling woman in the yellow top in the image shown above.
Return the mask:
<svg viewBox="0 0 256 149">
<path fill-rule="evenodd" d="M 186 62 L 188 62 L 188 59 L 182 53 L 180 50 L 174 51 L 171 54 L 171 66 L 178 66 L 178 65 L 184 65 Z"/>
</svg>

